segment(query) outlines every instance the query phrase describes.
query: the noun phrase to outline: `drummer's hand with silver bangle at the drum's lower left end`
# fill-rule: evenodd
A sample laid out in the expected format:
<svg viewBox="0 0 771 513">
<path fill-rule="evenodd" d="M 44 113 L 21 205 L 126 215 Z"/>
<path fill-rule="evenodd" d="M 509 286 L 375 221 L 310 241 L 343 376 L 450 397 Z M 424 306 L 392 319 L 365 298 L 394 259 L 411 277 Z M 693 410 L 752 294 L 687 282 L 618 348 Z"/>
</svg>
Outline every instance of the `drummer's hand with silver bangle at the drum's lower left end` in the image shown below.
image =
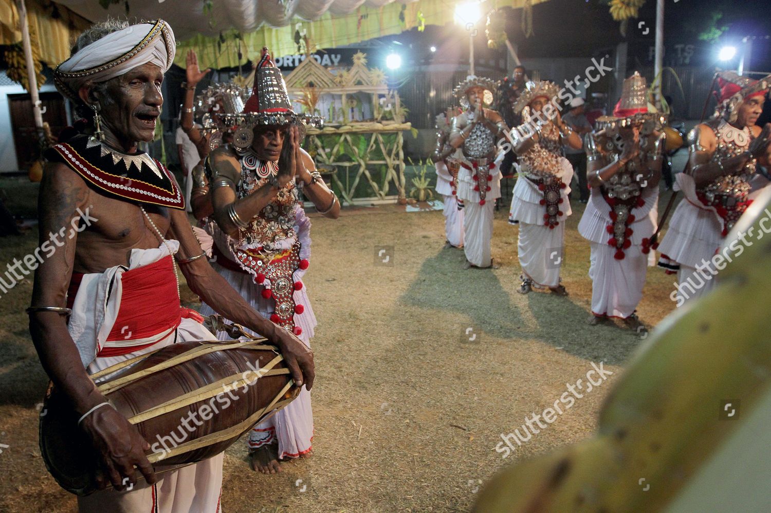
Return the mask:
<svg viewBox="0 0 771 513">
<path fill-rule="evenodd" d="M 118 491 L 133 487 L 137 478 L 135 466 L 148 484 L 155 483 L 153 466 L 145 456 L 150 444 L 115 408 L 104 406 L 95 410 L 83 419 L 81 427 L 102 458 L 102 472 L 96 475 L 99 489 L 106 488 L 108 483 Z"/>
</svg>

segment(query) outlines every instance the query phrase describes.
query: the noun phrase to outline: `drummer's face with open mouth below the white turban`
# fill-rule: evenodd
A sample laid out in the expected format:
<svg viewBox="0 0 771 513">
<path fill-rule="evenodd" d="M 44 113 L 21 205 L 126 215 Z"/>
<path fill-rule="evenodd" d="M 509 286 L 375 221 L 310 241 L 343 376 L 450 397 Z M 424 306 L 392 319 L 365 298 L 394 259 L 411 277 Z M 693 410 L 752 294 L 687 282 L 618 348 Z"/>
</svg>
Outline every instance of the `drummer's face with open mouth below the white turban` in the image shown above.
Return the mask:
<svg viewBox="0 0 771 513">
<path fill-rule="evenodd" d="M 163 71 L 150 62 L 137 66 L 107 84 L 100 99 L 103 123 L 122 142 L 153 140 L 163 96 Z"/>
</svg>

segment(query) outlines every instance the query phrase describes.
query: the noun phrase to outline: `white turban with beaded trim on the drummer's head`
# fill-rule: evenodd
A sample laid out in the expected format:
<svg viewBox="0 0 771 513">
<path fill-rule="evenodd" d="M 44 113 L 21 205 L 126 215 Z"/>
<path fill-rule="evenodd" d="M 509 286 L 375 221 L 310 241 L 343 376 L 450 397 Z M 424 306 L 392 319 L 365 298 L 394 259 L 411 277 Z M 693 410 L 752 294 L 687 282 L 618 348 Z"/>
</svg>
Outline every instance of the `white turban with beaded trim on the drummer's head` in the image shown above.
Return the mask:
<svg viewBox="0 0 771 513">
<path fill-rule="evenodd" d="M 147 62 L 165 73 L 176 52 L 174 32 L 167 22 L 138 23 L 84 46 L 56 66 L 54 80 L 62 94 L 77 101 L 78 91 L 87 81 L 106 82 Z"/>
</svg>

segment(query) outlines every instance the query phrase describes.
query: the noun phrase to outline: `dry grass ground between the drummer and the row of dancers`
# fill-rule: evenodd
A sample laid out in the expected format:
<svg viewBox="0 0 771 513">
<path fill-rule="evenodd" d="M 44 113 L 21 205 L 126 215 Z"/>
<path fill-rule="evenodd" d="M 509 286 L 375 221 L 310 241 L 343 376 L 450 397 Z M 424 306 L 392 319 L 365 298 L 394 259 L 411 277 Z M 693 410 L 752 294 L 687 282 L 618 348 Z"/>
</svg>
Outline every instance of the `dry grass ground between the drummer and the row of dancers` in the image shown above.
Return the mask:
<svg viewBox="0 0 771 513">
<path fill-rule="evenodd" d="M 639 339 L 586 325 L 591 282 L 589 246 L 576 231 L 580 204 L 567 222 L 568 298 L 517 294 L 517 228 L 504 210 L 495 220 L 493 256 L 502 266 L 494 271 L 463 270 L 463 252 L 443 249 L 441 212 L 387 206 L 314 218 L 306 278 L 319 321 L 315 454 L 266 476 L 249 470 L 244 444 L 231 447 L 224 511 L 465 511 L 502 465 L 589 436 Z M 35 247 L 34 232 L 0 239 L 3 270 Z M 375 262 L 376 246 L 393 247 L 389 265 Z M 644 322 L 655 325 L 674 308 L 671 287 L 650 269 Z M 23 313 L 31 290 L 25 280 L 0 298 L 0 511 L 72 511 L 74 499 L 45 471 L 37 446 L 35 405 L 47 380 Z M 463 338 L 469 327 L 473 342 Z M 495 451 L 500 434 L 549 407 L 600 361 L 614 371 L 607 382 L 506 460 Z"/>
</svg>

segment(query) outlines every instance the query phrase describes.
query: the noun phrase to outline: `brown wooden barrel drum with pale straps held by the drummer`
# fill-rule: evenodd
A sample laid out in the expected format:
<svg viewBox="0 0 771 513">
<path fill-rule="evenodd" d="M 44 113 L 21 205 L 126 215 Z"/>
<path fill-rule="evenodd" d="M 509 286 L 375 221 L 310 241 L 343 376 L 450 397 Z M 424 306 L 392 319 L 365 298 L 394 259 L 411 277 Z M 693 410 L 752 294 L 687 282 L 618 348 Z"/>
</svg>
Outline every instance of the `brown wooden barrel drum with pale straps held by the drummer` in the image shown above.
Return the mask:
<svg viewBox="0 0 771 513">
<path fill-rule="evenodd" d="M 194 341 L 127 359 L 92 377 L 114 374 L 98 389 L 150 443 L 147 457 L 163 472 L 221 453 L 291 403 L 299 389 L 283 360 L 262 339 Z M 79 415 L 56 390 L 45 398 L 43 411 L 45 466 L 67 491 L 96 491 L 99 454 L 77 425 Z"/>
</svg>

